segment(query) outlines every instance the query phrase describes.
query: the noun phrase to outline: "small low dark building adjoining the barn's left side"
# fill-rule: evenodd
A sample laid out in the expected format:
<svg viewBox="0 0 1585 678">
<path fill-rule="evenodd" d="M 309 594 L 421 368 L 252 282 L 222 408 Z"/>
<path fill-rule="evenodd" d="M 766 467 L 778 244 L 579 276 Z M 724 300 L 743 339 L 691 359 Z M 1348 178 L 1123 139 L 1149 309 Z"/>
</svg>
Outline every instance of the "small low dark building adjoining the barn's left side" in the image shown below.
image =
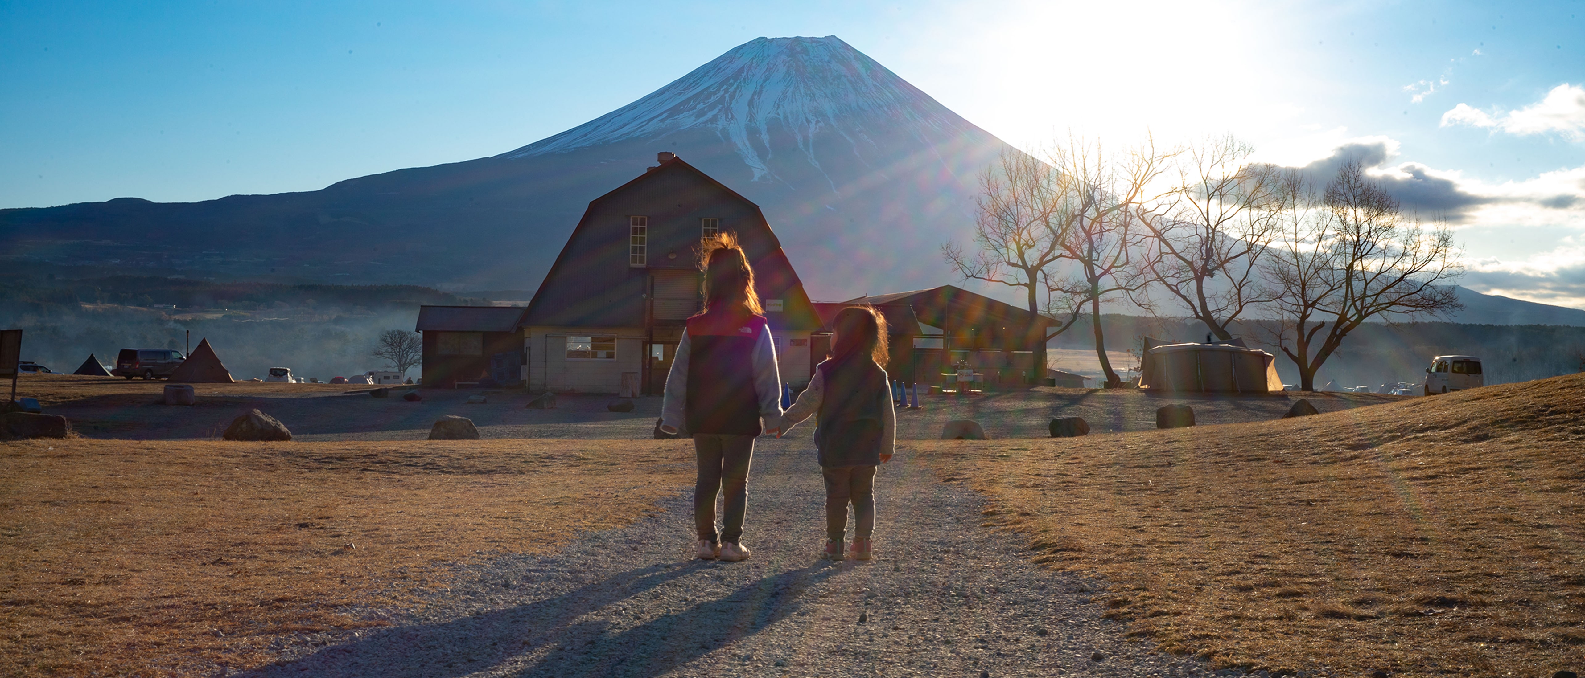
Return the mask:
<svg viewBox="0 0 1585 678">
<path fill-rule="evenodd" d="M 521 306 L 420 306 L 423 334 L 420 374 L 426 388 L 523 382 Z"/>
</svg>

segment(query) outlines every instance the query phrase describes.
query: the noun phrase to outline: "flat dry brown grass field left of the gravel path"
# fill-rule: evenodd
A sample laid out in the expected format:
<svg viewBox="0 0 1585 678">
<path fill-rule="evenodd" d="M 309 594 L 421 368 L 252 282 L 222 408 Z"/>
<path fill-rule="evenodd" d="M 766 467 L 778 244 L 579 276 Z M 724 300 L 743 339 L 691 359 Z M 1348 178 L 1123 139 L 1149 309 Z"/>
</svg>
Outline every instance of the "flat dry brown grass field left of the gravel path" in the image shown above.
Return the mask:
<svg viewBox="0 0 1585 678">
<path fill-rule="evenodd" d="M 447 562 L 626 524 L 693 466 L 685 440 L 0 444 L 0 675 L 257 665 L 387 624 Z"/>
</svg>

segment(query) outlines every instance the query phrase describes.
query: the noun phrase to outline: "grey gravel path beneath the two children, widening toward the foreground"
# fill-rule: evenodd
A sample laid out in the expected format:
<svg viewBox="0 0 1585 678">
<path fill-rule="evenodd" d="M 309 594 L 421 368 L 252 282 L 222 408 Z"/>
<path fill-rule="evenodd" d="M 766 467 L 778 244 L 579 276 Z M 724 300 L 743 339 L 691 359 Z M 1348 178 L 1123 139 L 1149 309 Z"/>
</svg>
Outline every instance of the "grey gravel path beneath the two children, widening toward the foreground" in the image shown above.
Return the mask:
<svg viewBox="0 0 1585 678">
<path fill-rule="evenodd" d="M 664 513 L 560 554 L 460 569 L 395 627 L 298 638 L 250 675 L 1209 675 L 1122 638 L 1089 600 L 1095 581 L 1030 564 L 1018 535 L 980 528 L 976 494 L 937 482 L 907 450 L 877 486 L 877 559 L 821 561 L 813 451 L 761 439 L 750 561 L 689 559 L 685 491 Z"/>
</svg>

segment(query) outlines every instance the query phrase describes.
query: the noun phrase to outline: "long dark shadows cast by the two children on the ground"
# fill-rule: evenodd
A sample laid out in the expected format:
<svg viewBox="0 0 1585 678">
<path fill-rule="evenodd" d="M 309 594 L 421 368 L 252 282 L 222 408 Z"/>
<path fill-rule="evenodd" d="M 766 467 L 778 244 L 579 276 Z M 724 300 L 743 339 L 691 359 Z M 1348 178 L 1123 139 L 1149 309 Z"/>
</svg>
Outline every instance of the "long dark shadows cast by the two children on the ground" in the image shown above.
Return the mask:
<svg viewBox="0 0 1585 678">
<path fill-rule="evenodd" d="M 732 594 L 683 611 L 661 615 L 612 632 L 610 621 L 579 621 L 628 602 L 642 608 L 644 592 L 685 577 L 701 561 L 656 564 L 612 575 L 528 605 L 441 624 L 380 630 L 311 656 L 260 667 L 243 676 L 461 676 L 534 656 L 518 675 L 648 676 L 758 634 L 797 611 L 799 599 L 838 567 L 815 564 L 745 585 Z M 610 615 L 605 615 L 610 616 Z M 631 616 L 647 616 L 631 613 Z"/>
</svg>

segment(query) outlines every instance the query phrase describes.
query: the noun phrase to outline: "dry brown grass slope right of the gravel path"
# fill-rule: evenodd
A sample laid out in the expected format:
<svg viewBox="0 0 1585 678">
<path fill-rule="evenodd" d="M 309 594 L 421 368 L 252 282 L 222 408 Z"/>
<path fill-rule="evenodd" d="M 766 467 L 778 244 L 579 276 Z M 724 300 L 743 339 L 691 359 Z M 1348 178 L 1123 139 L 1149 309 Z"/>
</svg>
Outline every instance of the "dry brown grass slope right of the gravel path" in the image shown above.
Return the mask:
<svg viewBox="0 0 1585 678">
<path fill-rule="evenodd" d="M 1301 420 L 916 442 L 1173 653 L 1339 675 L 1585 667 L 1585 375 Z"/>
</svg>

